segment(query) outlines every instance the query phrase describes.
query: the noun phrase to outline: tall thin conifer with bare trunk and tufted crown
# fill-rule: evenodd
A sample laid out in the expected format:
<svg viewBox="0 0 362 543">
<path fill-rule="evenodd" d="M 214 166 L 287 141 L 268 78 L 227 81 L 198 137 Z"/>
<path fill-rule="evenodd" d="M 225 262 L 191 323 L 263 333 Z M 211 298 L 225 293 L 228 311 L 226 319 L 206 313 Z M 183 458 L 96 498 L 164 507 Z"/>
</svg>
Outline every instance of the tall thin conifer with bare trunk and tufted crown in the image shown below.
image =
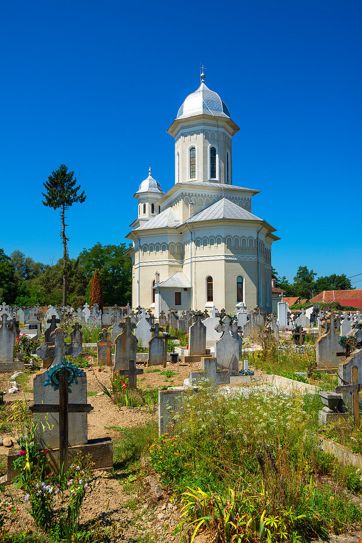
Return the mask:
<svg viewBox="0 0 362 543">
<path fill-rule="evenodd" d="M 61 164 L 57 170 L 53 170 L 52 175 L 48 176 L 48 181 L 43 183 L 46 188 L 46 194 L 42 192 L 45 200 L 43 204 L 47 207 L 53 207 L 54 210 L 61 208 L 60 220 L 61 220 L 61 232 L 60 238 L 63 243 L 63 306 L 67 305 L 67 262 L 68 262 L 68 250 L 67 241 L 69 238 L 65 235 L 65 213 L 75 202 L 82 204 L 86 195 L 84 191 L 78 194 L 80 185 L 75 186 L 77 178 L 74 177 L 74 172 L 68 172 L 68 167 L 65 164 Z"/>
</svg>

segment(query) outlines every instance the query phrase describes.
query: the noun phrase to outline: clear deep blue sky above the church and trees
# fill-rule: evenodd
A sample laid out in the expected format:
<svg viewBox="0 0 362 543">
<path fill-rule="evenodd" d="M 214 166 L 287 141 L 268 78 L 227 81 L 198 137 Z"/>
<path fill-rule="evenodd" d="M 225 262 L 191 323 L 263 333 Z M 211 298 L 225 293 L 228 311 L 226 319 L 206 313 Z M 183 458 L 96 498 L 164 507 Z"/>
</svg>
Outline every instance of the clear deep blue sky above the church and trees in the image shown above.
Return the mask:
<svg viewBox="0 0 362 543">
<path fill-rule="evenodd" d="M 62 256 L 41 203 L 61 163 L 87 194 L 68 213 L 69 255 L 124 242 L 148 162 L 174 183 L 166 130 L 201 61 L 240 127 L 233 182 L 262 191 L 252 211 L 282 238 L 273 266 L 360 273 L 361 15 L 357 0 L 4 3 L 0 247 Z"/>
</svg>

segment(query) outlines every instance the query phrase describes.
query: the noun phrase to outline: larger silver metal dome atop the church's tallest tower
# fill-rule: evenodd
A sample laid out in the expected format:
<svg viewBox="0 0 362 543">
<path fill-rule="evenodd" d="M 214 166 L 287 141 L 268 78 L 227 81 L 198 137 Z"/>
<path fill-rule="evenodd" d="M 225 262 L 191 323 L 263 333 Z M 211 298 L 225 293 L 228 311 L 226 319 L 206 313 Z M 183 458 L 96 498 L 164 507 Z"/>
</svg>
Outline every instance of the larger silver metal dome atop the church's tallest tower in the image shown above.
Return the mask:
<svg viewBox="0 0 362 543">
<path fill-rule="evenodd" d="M 189 94 L 177 112 L 176 119 L 185 119 L 195 115 L 213 115 L 230 118 L 229 110 L 217 92 L 207 88 L 202 80 L 198 90 Z"/>
</svg>

